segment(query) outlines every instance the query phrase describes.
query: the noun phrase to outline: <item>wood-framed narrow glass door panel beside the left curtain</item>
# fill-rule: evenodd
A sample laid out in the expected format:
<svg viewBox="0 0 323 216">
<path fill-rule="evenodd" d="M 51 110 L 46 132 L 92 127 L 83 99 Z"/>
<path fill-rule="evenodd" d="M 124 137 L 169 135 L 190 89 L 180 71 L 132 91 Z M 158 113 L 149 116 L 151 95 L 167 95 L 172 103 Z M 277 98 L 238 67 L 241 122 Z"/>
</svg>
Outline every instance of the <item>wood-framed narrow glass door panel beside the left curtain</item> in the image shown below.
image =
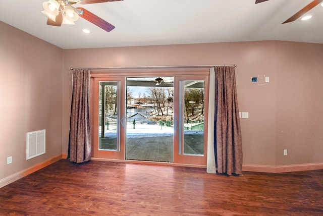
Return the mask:
<svg viewBox="0 0 323 216">
<path fill-rule="evenodd" d="M 124 159 L 124 78 L 94 78 L 93 84 L 94 156 Z"/>
</svg>

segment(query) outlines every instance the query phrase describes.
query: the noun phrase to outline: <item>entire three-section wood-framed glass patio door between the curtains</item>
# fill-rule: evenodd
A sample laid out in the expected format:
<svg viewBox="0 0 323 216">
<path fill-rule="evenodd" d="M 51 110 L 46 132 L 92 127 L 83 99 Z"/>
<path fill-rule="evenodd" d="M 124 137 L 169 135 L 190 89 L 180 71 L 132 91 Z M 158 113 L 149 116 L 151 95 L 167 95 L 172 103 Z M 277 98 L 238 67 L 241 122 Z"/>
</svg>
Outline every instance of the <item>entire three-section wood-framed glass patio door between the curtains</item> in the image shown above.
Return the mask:
<svg viewBox="0 0 323 216">
<path fill-rule="evenodd" d="M 93 77 L 95 158 L 206 165 L 208 71 Z"/>
</svg>

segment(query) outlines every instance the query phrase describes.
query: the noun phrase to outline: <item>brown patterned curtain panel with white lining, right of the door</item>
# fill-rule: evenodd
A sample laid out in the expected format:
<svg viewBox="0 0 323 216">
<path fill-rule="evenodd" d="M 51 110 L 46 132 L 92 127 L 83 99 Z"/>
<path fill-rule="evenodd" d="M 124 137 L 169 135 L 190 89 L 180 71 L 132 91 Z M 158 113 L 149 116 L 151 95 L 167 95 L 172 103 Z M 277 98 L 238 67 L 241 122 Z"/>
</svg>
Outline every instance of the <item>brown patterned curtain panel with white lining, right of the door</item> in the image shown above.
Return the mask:
<svg viewBox="0 0 323 216">
<path fill-rule="evenodd" d="M 242 140 L 237 100 L 235 68 L 214 68 L 215 122 L 214 152 L 218 173 L 242 174 Z"/>
</svg>

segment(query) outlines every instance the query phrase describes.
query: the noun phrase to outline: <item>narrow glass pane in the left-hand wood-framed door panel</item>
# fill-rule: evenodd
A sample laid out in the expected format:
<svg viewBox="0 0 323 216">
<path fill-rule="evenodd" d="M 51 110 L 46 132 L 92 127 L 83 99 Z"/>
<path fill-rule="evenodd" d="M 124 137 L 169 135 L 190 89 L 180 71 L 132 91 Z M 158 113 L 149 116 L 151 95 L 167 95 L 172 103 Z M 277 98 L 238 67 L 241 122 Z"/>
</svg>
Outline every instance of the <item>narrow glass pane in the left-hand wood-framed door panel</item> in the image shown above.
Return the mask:
<svg viewBox="0 0 323 216">
<path fill-rule="evenodd" d="M 117 84 L 99 82 L 99 150 L 119 150 Z"/>
</svg>

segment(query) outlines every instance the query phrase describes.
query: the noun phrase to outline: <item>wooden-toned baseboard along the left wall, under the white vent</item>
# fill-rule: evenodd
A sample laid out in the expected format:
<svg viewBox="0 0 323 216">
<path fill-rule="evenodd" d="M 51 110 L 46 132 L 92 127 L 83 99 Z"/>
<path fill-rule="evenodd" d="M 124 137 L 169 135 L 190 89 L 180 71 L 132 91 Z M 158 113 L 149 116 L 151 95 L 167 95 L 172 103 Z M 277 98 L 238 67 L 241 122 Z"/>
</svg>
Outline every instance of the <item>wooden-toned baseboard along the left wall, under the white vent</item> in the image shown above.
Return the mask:
<svg viewBox="0 0 323 216">
<path fill-rule="evenodd" d="M 51 157 L 51 158 L 49 158 L 49 159 L 47 159 L 47 160 L 45 160 L 45 161 L 43 161 L 43 162 L 41 162 L 39 164 L 36 164 L 36 165 L 30 167 L 30 168 L 22 170 L 22 171 L 20 171 L 18 173 L 10 175 L 10 176 L 8 176 L 6 178 L 0 179 L 0 188 L 4 187 L 6 185 L 9 185 L 10 183 L 12 183 L 14 181 L 17 181 L 18 179 L 21 179 L 21 178 L 23 178 L 25 176 L 28 176 L 29 174 L 32 174 L 32 173 L 36 172 L 37 170 L 40 170 L 40 169 L 42 169 L 44 167 L 47 167 L 48 165 L 51 165 L 51 164 L 55 163 L 56 161 L 58 161 L 58 160 L 60 160 L 62 158 L 66 158 L 66 156 L 63 157 L 63 155 L 64 154 L 59 154 L 59 155 L 53 156 L 53 157 Z"/>
</svg>

